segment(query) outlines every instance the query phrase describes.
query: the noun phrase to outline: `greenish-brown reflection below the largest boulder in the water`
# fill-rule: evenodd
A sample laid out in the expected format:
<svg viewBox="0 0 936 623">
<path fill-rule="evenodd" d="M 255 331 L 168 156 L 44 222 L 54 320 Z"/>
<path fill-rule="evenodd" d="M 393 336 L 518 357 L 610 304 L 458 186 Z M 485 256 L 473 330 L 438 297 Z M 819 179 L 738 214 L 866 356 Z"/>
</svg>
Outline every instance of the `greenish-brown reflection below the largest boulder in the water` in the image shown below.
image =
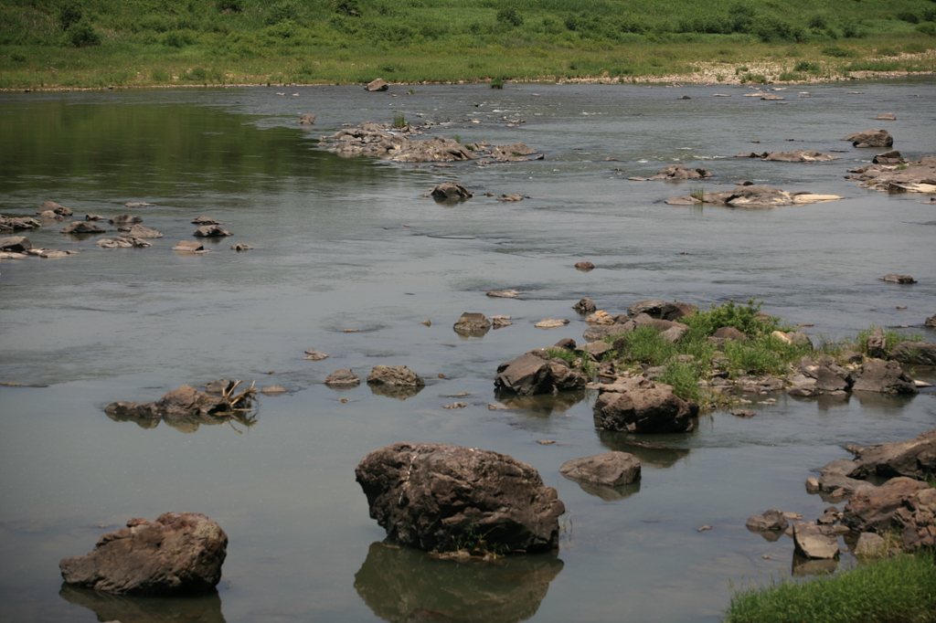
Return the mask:
<svg viewBox="0 0 936 623">
<path fill-rule="evenodd" d="M 354 587 L 373 614 L 391 623 L 516 623 L 536 614 L 562 570 L 555 554 L 456 562 L 372 543 Z"/>
</svg>

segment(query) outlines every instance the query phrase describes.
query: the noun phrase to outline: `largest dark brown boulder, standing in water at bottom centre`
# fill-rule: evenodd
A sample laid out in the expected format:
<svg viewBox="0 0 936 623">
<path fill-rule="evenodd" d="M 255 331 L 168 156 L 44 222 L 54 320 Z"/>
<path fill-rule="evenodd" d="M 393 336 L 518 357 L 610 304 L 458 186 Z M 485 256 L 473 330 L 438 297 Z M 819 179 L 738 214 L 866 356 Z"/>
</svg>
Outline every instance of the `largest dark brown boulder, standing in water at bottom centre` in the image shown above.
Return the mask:
<svg viewBox="0 0 936 623">
<path fill-rule="evenodd" d="M 397 543 L 443 552 L 559 545 L 556 490 L 514 458 L 444 443 L 394 443 L 355 470 L 371 517 Z M 479 542 L 484 543 L 479 543 Z"/>
</svg>

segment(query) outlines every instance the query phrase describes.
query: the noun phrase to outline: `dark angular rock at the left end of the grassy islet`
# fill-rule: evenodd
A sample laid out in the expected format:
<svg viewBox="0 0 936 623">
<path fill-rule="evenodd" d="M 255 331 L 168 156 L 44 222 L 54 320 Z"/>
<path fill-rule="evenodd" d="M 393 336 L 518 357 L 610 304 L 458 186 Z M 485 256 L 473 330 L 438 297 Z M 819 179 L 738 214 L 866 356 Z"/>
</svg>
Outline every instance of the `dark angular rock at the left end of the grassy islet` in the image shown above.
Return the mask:
<svg viewBox="0 0 936 623">
<path fill-rule="evenodd" d="M 494 387 L 509 394 L 534 396 L 584 389 L 585 378 L 563 359 L 550 359 L 545 349 L 536 349 L 498 366 Z"/>
</svg>

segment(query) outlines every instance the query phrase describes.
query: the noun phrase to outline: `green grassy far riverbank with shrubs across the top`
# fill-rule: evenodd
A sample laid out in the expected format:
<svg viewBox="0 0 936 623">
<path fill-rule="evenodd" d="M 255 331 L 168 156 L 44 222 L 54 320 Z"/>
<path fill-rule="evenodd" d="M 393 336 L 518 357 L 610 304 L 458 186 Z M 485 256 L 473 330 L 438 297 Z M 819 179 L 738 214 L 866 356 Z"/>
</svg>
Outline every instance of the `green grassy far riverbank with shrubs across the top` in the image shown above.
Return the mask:
<svg viewBox="0 0 936 623">
<path fill-rule="evenodd" d="M 929 0 L 9 0 L 0 88 L 835 80 L 936 69 Z"/>
</svg>

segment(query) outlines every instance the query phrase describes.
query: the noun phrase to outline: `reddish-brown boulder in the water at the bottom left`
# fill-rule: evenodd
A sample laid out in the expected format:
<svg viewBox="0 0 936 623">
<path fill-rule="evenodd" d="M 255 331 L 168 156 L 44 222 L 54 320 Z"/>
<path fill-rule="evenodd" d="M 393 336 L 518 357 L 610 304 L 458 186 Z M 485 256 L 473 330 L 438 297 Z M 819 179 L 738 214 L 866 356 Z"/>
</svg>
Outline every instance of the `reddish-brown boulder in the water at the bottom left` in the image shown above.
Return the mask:
<svg viewBox="0 0 936 623">
<path fill-rule="evenodd" d="M 59 563 L 68 584 L 130 595 L 182 595 L 212 590 L 221 580 L 227 534 L 200 513 L 131 519 L 102 536 L 87 556 Z"/>
</svg>

